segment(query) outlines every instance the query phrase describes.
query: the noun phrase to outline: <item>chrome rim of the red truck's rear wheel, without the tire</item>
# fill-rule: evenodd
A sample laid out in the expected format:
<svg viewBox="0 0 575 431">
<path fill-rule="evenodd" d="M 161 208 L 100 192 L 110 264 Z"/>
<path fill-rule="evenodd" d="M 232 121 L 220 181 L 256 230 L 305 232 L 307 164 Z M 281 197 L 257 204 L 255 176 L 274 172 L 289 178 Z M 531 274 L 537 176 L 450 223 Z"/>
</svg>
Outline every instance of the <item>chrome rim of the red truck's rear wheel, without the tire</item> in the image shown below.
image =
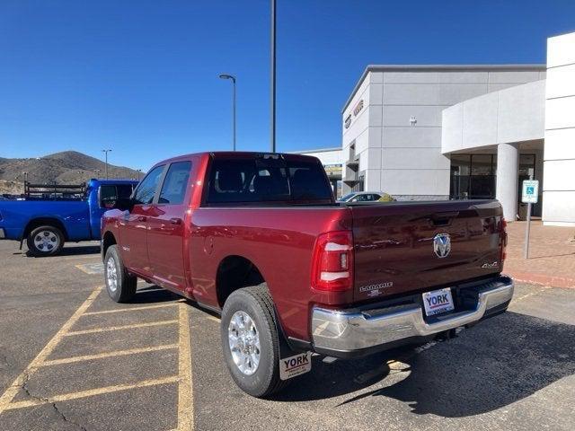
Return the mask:
<svg viewBox="0 0 575 431">
<path fill-rule="evenodd" d="M 260 365 L 260 332 L 247 312 L 234 312 L 227 327 L 227 336 L 235 366 L 245 375 L 252 375 Z"/>
</svg>

